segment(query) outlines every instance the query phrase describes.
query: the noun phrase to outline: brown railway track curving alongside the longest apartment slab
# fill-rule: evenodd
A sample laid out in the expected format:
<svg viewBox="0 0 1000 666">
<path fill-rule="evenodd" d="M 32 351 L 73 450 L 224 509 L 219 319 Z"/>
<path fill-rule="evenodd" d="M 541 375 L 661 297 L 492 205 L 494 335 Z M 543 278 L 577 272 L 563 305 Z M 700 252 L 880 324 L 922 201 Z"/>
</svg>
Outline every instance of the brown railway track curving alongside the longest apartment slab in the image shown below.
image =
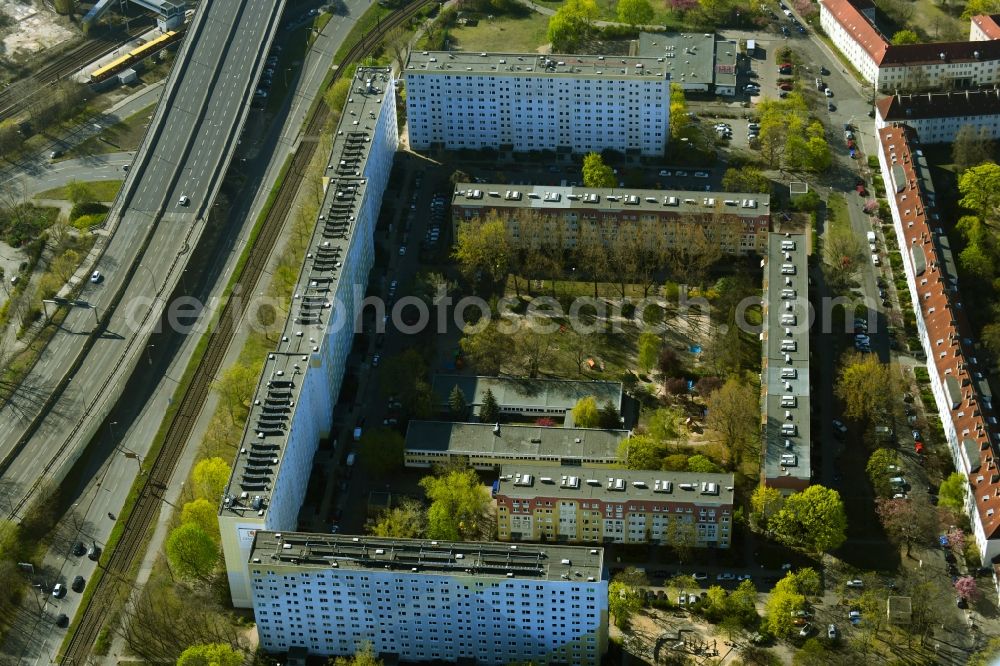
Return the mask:
<svg viewBox="0 0 1000 666">
<path fill-rule="evenodd" d="M 417 0 L 381 21 L 376 29 L 351 47 L 340 63 L 341 67 L 335 72 L 331 85 L 340 78 L 345 69 L 343 67 L 345 63 L 358 62 L 369 55 L 382 41 L 386 33 L 408 21 L 433 1 Z M 306 126 L 304 136 L 318 136 L 330 117 L 329 107 L 322 100 L 322 97 L 319 100 Z M 267 217 L 264 219 L 247 262 L 239 273 L 234 292 L 239 290 L 238 293 L 254 293 L 268 257 L 285 224 L 288 211 L 293 208 L 292 204 L 306 173 L 306 167 L 312 161 L 318 147 L 319 142 L 315 140 L 303 140 L 299 143 L 285 180 L 281 183 Z M 218 325 L 210 333 L 205 354 L 198 363 L 191 385 L 181 397 L 178 409 L 174 412 L 167 427 L 163 446 L 153 461 L 149 474 L 145 477 L 145 482 L 139 491 L 139 497 L 128 515 L 119 516 L 119 520 L 125 521 L 121 540 L 111 553 L 107 565 L 104 567 L 104 575 L 97 581 L 90 601 L 76 618 L 76 629 L 65 652 L 60 656 L 60 663 L 74 665 L 86 663 L 101 627 L 108 618 L 112 617 L 115 604 L 120 603 L 121 586 L 128 584 L 129 571 L 136 558 L 142 556 L 146 534 L 163 502 L 162 497 L 156 494 L 156 489 L 166 488 L 167 484 L 170 483 L 177 461 L 198 420 L 202 405 L 205 404 L 211 390 L 213 378 L 222 365 L 226 350 L 236 331 L 236 325 L 242 319 L 247 304 L 247 299 L 228 299 L 226 301 Z"/>
</svg>

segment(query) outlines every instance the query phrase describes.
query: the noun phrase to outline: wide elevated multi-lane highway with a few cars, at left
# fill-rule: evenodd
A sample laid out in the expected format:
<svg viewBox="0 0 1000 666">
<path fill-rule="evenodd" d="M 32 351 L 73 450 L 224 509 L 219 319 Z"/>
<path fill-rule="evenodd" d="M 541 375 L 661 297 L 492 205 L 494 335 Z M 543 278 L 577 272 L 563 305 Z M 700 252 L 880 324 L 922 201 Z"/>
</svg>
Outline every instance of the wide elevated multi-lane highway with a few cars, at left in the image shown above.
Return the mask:
<svg viewBox="0 0 1000 666">
<path fill-rule="evenodd" d="M 144 352 L 148 328 L 205 226 L 283 0 L 203 3 L 109 216 L 79 299 L 21 389 L 0 406 L 0 472 L 24 497 L 79 456 Z M 179 205 L 184 195 L 187 205 Z M 78 359 L 80 359 L 78 361 Z M 53 396 L 50 398 L 50 396 Z M 15 510 L 23 509 L 15 502 Z"/>
</svg>

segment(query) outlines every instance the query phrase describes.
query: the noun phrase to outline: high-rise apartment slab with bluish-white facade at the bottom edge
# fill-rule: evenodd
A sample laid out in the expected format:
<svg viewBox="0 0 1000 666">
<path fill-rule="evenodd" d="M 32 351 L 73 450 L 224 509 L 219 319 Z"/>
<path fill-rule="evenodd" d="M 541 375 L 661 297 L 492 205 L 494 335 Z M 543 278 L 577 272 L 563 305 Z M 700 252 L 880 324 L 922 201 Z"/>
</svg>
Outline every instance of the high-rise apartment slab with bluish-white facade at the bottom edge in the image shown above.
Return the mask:
<svg viewBox="0 0 1000 666">
<path fill-rule="evenodd" d="M 596 666 L 607 649 L 600 548 L 258 532 L 249 569 L 271 653 Z"/>
</svg>

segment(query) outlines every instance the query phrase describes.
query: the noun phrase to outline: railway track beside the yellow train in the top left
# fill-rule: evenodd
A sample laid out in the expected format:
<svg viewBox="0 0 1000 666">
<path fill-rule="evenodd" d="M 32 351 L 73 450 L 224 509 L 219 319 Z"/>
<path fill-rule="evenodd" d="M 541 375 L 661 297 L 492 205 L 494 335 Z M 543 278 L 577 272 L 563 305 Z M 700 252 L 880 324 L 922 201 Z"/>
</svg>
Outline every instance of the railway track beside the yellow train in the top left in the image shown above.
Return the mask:
<svg viewBox="0 0 1000 666">
<path fill-rule="evenodd" d="M 146 32 L 152 21 L 144 16 L 133 19 L 132 23 L 136 25 L 130 25 L 128 32 L 114 32 L 88 39 L 80 46 L 45 63 L 31 76 L 0 90 L 0 121 L 16 116 L 28 108 L 33 99 L 44 95 L 50 86 Z"/>
</svg>

